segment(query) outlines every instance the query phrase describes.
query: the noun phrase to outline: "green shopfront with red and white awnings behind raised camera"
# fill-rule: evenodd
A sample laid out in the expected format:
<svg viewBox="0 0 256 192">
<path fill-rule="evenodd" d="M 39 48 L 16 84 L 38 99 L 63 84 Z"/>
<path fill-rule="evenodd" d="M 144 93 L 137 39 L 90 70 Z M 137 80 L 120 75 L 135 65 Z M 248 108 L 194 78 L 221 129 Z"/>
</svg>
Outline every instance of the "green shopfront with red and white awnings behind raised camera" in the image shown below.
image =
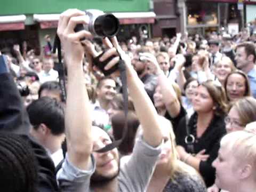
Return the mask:
<svg viewBox="0 0 256 192">
<path fill-rule="evenodd" d="M 138 35 L 141 26 L 147 27 L 150 36 L 150 26 L 156 16 L 151 7 L 149 0 L 3 1 L 0 6 L 0 50 L 10 51 L 14 43 L 21 45 L 26 41 L 28 49 L 33 47 L 39 54 L 46 44 L 46 34 L 53 41 L 59 14 L 72 8 L 114 13 L 121 23 L 118 37 L 122 40 Z"/>
</svg>

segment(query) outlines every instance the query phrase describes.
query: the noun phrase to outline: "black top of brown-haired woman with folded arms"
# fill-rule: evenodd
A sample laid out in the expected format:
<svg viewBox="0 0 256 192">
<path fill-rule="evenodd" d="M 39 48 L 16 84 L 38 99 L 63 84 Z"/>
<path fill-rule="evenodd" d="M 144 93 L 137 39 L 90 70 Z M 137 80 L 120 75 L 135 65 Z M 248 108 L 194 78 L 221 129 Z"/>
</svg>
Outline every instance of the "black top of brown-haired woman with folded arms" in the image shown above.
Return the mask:
<svg viewBox="0 0 256 192">
<path fill-rule="evenodd" d="M 194 153 L 197 154 L 199 151 L 205 149 L 205 154 L 210 155 L 207 161 L 201 161 L 199 164 L 199 172 L 204 178 L 207 187 L 213 185 L 215 180 L 215 169 L 212 167 L 212 162 L 218 156 L 218 150 L 220 148 L 220 139 L 226 134 L 224 117 L 214 116 L 209 127 L 205 130 L 200 138 L 196 137 L 196 123 L 197 113 L 194 113 L 188 122 L 188 129 L 191 134 L 194 135 L 196 141 L 194 143 Z M 177 145 L 185 148 L 188 153 L 188 147 L 185 143 L 185 137 L 187 136 L 186 131 L 186 118 L 182 118 L 176 133 Z"/>
</svg>

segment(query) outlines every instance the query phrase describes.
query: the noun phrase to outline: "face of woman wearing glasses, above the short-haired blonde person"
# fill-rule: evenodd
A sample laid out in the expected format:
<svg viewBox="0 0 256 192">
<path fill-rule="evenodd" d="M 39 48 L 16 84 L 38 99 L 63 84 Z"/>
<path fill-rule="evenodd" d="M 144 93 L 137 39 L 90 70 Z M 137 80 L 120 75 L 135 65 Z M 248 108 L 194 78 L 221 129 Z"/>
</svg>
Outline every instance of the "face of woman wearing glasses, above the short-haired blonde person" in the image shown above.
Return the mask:
<svg viewBox="0 0 256 192">
<path fill-rule="evenodd" d="M 238 111 L 235 107 L 231 107 L 227 117 L 225 118 L 226 130 L 228 133 L 233 131 L 240 131 L 244 129 L 244 126 L 241 124 Z"/>
</svg>

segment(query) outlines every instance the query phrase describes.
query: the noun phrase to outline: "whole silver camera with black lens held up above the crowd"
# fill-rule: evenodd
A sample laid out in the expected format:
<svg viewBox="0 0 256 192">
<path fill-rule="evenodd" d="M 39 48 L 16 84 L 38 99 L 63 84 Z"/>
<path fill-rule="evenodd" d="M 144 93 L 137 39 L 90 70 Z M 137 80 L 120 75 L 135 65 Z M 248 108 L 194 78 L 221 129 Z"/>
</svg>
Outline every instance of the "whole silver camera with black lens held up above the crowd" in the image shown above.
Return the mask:
<svg viewBox="0 0 256 192">
<path fill-rule="evenodd" d="M 110 13 L 104 13 L 100 10 L 85 10 L 89 19 L 88 25 L 78 24 L 75 32 L 88 30 L 94 37 L 113 37 L 118 33 L 119 20 Z"/>
</svg>

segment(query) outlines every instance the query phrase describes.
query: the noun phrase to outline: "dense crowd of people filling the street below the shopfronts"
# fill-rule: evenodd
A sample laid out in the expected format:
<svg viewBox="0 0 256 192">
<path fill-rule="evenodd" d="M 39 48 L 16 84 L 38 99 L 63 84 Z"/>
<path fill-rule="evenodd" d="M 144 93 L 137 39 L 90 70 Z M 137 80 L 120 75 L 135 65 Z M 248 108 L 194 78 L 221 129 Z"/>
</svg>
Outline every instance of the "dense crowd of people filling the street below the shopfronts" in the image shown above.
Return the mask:
<svg viewBox="0 0 256 192">
<path fill-rule="evenodd" d="M 4 191 L 256 189 L 254 34 L 99 41 L 74 32 L 86 22 L 60 15 L 66 100 L 49 36 L 40 56 L 19 45 L 0 55 Z M 105 70 L 123 60 L 128 101 L 118 71 L 104 76 L 95 58 Z"/>
</svg>

